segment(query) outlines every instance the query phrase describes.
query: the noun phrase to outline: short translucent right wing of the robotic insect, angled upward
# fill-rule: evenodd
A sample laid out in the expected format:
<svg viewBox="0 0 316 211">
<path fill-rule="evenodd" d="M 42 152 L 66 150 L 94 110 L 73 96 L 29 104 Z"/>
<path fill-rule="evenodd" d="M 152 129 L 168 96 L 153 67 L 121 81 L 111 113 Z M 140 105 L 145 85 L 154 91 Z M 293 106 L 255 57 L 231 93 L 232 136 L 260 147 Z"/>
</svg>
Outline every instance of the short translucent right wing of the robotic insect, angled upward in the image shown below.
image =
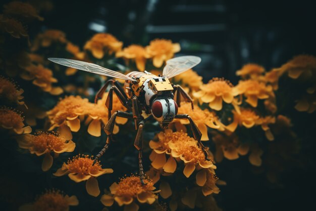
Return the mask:
<svg viewBox="0 0 316 211">
<path fill-rule="evenodd" d="M 201 58 L 197 56 L 181 56 L 167 61 L 167 65 L 164 68 L 163 76 L 171 78 L 188 69 L 196 66 L 201 62 Z"/>
</svg>

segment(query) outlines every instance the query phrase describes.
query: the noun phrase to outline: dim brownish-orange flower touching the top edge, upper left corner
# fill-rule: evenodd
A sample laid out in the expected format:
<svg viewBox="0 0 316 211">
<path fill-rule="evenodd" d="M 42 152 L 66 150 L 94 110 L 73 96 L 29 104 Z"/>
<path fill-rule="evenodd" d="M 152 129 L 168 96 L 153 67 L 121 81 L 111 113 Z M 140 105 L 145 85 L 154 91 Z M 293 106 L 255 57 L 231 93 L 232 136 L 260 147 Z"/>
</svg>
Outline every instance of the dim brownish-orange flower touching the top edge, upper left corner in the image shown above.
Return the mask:
<svg viewBox="0 0 316 211">
<path fill-rule="evenodd" d="M 23 2 L 10 2 L 4 6 L 4 14 L 10 17 L 23 18 L 26 20 L 32 20 L 34 18 L 42 21 L 43 18 L 40 17 L 36 9 L 28 4 Z"/>
</svg>

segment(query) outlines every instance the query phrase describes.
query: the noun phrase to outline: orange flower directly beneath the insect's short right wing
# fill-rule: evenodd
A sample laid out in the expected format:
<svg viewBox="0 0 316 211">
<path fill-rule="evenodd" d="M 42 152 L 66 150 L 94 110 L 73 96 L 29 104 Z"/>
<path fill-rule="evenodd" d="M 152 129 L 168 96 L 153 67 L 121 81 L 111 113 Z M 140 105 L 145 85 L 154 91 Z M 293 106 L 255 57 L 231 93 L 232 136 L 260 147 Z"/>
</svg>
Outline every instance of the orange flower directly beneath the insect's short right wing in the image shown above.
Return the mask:
<svg viewBox="0 0 316 211">
<path fill-rule="evenodd" d="M 189 69 L 175 77 L 176 81 L 181 81 L 181 84 L 188 86 L 191 90 L 197 91 L 203 84 L 202 76 L 199 76 L 195 71 Z"/>
</svg>

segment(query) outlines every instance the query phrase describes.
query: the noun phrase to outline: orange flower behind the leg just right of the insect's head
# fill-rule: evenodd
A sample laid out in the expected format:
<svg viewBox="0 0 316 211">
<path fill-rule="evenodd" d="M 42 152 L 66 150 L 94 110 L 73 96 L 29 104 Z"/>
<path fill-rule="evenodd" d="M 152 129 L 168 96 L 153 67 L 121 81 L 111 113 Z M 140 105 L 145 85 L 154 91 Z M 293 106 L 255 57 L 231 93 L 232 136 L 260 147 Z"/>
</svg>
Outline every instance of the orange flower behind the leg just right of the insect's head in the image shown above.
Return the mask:
<svg viewBox="0 0 316 211">
<path fill-rule="evenodd" d="M 202 141 L 208 141 L 207 126 L 220 131 L 224 130 L 225 125 L 220 122 L 218 116 L 214 112 L 210 112 L 207 109 L 202 110 L 198 106 L 195 106 L 193 110 L 191 103 L 181 102 L 181 106 L 178 108 L 178 114 L 188 114 L 192 118 L 197 125 L 197 128 L 202 133 Z M 186 128 L 183 125 L 190 123 L 188 119 L 175 119 L 173 122 L 177 131 L 183 130 L 184 132 L 186 132 Z"/>
</svg>

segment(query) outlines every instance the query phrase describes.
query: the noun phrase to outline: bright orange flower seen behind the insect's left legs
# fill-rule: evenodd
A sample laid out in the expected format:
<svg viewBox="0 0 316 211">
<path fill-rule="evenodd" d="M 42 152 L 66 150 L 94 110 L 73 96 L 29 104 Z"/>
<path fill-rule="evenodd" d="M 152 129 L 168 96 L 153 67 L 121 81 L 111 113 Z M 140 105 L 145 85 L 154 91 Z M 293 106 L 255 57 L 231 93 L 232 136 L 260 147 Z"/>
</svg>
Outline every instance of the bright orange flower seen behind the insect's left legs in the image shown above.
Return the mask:
<svg viewBox="0 0 316 211">
<path fill-rule="evenodd" d="M 104 125 L 108 123 L 108 108 L 105 106 L 108 94 L 108 92 L 104 93 L 102 98 L 97 101 L 97 104 L 92 105 L 90 110 L 88 111 L 89 117 L 87 118 L 86 123 L 89 123 L 88 133 L 92 136 L 101 136 L 101 123 Z M 117 95 L 113 95 L 112 105 L 112 114 L 116 111 L 127 110 L 127 108 L 123 106 Z M 117 117 L 115 122 L 118 124 L 125 124 L 127 120 L 127 118 Z M 117 133 L 119 133 L 119 126 L 115 124 L 113 134 Z"/>
</svg>

